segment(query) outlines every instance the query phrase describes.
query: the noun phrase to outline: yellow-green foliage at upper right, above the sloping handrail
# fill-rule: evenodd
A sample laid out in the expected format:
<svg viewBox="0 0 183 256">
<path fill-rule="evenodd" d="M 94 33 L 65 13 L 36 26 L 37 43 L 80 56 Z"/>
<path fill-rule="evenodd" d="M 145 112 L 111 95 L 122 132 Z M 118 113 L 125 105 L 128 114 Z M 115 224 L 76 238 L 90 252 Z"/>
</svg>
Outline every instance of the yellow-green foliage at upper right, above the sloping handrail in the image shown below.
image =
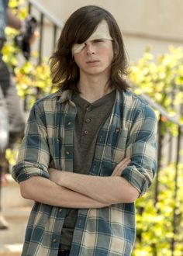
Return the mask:
<svg viewBox="0 0 183 256">
<path fill-rule="evenodd" d="M 129 80 L 136 85 L 136 93 L 149 95 L 154 102 L 176 116 L 183 104 L 183 50 L 170 47 L 167 54 L 154 57 L 146 50 L 137 64 L 129 70 Z M 183 116 L 180 117 L 183 123 Z"/>
</svg>

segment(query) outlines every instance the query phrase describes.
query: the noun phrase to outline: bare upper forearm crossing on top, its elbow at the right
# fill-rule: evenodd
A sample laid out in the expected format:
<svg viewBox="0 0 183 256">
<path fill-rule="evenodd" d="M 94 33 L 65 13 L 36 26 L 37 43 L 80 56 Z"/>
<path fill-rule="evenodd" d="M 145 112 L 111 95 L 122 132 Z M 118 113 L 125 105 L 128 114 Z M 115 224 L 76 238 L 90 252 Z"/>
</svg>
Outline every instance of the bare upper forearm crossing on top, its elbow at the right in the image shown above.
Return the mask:
<svg viewBox="0 0 183 256">
<path fill-rule="evenodd" d="M 139 195 L 139 192 L 126 179 L 119 176 L 98 177 L 64 171 L 64 175 L 60 175 L 57 183 L 109 205 L 134 202 Z"/>
</svg>

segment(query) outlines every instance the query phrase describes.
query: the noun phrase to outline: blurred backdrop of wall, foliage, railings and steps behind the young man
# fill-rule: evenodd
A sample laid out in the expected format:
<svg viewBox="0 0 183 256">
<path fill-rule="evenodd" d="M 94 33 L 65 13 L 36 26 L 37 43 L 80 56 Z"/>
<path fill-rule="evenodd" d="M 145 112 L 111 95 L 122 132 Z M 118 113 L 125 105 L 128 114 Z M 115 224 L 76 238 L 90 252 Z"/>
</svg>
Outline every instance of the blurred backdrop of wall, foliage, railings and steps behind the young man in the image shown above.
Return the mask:
<svg viewBox="0 0 183 256">
<path fill-rule="evenodd" d="M 133 256 L 183 255 L 183 1 L 182 0 L 11 0 L 20 19 L 31 13 L 37 38 L 26 60 L 6 29 L 5 62 L 12 69 L 25 119 L 33 102 L 54 92 L 48 58 L 65 20 L 84 5 L 99 5 L 112 13 L 129 56 L 132 90 L 149 102 L 158 119 L 158 170 L 147 195 L 136 201 L 136 245 Z M 33 202 L 22 199 L 12 181 L 19 142 L 6 150 L 7 181 L 2 183 L 0 256 L 20 255 Z"/>
</svg>

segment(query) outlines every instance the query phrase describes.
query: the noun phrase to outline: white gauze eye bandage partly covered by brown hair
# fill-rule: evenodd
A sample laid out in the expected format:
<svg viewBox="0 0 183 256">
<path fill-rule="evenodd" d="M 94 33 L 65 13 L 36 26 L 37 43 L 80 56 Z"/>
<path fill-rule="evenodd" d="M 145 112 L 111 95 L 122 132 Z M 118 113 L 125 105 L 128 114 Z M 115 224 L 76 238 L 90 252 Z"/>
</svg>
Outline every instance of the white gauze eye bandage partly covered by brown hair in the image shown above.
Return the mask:
<svg viewBox="0 0 183 256">
<path fill-rule="evenodd" d="M 99 39 L 104 39 L 104 40 L 112 40 L 112 37 L 110 36 L 109 33 L 109 27 L 107 22 L 102 20 L 95 29 L 94 33 L 91 34 L 91 36 L 86 40 L 84 43 L 75 43 L 74 46 L 72 47 L 72 56 L 74 54 L 78 54 L 81 52 L 81 50 L 85 47 L 85 43 L 93 40 L 99 40 Z"/>
</svg>

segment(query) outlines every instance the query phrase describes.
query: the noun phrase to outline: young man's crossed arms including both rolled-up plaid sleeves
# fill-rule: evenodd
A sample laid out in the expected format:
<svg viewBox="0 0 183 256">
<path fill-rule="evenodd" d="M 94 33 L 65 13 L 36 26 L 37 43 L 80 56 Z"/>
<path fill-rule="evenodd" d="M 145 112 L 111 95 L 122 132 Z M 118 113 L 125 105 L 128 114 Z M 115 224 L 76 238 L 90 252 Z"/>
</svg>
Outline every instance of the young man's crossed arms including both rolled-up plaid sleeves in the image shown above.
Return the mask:
<svg viewBox="0 0 183 256">
<path fill-rule="evenodd" d="M 143 109 L 143 112 L 145 110 Z M 49 166 L 47 130 L 40 118 L 42 112 L 36 107 L 32 109 L 26 137 L 19 151 L 18 164 L 12 171 L 13 177 L 20 183 L 24 198 L 50 206 L 100 208 L 120 202 L 134 202 L 147 191 L 156 169 L 154 112 L 147 109 L 147 116 L 140 112 L 140 121 L 136 121 L 133 125 L 126 149 L 126 155 L 132 156 L 130 164 L 129 159 L 119 162 L 112 176 L 79 175 L 69 170 L 49 169 L 50 179 L 47 175 L 47 166 Z M 30 144 L 33 146 L 29 147 Z M 43 167 L 43 170 L 40 169 Z"/>
</svg>

